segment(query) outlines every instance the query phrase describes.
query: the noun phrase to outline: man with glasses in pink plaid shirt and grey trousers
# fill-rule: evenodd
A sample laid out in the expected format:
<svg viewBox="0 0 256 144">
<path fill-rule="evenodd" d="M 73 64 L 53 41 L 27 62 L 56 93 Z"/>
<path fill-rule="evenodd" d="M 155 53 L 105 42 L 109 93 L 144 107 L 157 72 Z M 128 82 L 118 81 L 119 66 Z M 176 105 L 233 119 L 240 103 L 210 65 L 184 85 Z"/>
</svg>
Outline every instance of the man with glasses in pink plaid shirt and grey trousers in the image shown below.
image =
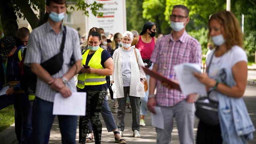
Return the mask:
<svg viewBox="0 0 256 144">
<path fill-rule="evenodd" d="M 189 10 L 183 5 L 173 7 L 170 15 L 172 32 L 157 40 L 151 56 L 153 70 L 173 80 L 178 80 L 174 72 L 175 65 L 185 62 L 201 64 L 201 45 L 185 31 L 189 22 L 188 14 Z M 159 106 L 164 116 L 164 129 L 156 128 L 158 144 L 170 144 L 174 117 L 180 143 L 194 143 L 194 101 L 195 94 L 185 96 L 166 83 L 150 77 L 148 109 L 155 113 L 154 106 Z"/>
</svg>

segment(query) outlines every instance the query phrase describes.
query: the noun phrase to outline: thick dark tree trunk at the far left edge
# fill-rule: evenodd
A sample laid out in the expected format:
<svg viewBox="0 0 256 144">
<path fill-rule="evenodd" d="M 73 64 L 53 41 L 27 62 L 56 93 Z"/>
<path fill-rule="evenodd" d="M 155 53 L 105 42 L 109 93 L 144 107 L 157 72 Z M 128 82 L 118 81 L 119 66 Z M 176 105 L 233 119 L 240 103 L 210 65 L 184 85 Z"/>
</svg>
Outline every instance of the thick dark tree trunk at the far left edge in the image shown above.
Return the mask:
<svg viewBox="0 0 256 144">
<path fill-rule="evenodd" d="M 0 17 L 4 35 L 17 35 L 19 27 L 11 0 L 0 0 Z"/>
</svg>

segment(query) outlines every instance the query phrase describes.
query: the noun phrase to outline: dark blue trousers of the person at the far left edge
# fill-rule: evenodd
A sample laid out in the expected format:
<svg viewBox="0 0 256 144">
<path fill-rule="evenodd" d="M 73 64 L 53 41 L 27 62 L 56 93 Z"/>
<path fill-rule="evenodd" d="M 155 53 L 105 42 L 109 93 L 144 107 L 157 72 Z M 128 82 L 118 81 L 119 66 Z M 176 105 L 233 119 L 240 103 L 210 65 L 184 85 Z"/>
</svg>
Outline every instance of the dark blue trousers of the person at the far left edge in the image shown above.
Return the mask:
<svg viewBox="0 0 256 144">
<path fill-rule="evenodd" d="M 19 143 L 27 143 L 32 133 L 32 107 L 28 95 L 14 93 L 0 97 L 0 110 L 14 104 L 15 109 L 15 133 Z"/>
</svg>

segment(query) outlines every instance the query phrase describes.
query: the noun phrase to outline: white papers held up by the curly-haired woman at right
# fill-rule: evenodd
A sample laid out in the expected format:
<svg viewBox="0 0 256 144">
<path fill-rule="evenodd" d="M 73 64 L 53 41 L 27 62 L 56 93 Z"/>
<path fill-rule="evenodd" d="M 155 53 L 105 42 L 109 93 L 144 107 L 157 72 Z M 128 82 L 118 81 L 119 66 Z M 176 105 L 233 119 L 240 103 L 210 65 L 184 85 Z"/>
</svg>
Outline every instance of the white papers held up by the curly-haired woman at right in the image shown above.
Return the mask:
<svg viewBox="0 0 256 144">
<path fill-rule="evenodd" d="M 206 87 L 193 75 L 192 72 L 201 73 L 199 64 L 183 63 L 176 65 L 174 71 L 178 76 L 179 87 L 184 95 L 199 93 L 207 95 Z"/>
</svg>

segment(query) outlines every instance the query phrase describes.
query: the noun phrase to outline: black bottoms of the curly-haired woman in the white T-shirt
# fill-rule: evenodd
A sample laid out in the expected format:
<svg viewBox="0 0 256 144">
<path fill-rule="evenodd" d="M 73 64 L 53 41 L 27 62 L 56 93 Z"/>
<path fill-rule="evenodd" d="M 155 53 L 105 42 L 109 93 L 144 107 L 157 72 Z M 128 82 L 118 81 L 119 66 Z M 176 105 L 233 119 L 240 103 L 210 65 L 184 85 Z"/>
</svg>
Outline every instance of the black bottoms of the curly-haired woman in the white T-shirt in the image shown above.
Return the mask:
<svg viewBox="0 0 256 144">
<path fill-rule="evenodd" d="M 196 143 L 222 144 L 220 125 L 212 126 L 200 120 L 197 129 Z"/>
</svg>

